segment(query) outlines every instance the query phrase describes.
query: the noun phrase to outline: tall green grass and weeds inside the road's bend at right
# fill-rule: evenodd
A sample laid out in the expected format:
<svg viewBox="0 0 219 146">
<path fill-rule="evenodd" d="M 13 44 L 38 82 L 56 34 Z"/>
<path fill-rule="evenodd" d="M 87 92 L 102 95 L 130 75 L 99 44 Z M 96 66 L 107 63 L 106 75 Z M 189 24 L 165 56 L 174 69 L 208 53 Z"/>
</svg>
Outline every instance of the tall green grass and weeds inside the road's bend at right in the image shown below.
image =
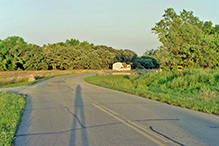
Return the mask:
<svg viewBox="0 0 219 146">
<path fill-rule="evenodd" d="M 219 70 L 92 76 L 85 81 L 167 104 L 219 115 Z"/>
</svg>

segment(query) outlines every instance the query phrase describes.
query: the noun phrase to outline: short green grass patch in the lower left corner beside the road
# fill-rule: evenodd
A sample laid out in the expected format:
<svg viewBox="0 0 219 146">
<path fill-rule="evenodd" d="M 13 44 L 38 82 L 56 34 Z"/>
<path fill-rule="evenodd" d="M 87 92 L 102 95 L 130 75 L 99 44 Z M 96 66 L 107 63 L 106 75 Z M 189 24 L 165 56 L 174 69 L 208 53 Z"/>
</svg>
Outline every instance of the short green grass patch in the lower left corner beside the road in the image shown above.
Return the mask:
<svg viewBox="0 0 219 146">
<path fill-rule="evenodd" d="M 26 97 L 0 92 L 0 145 L 13 145 L 14 134 L 24 111 Z"/>
</svg>

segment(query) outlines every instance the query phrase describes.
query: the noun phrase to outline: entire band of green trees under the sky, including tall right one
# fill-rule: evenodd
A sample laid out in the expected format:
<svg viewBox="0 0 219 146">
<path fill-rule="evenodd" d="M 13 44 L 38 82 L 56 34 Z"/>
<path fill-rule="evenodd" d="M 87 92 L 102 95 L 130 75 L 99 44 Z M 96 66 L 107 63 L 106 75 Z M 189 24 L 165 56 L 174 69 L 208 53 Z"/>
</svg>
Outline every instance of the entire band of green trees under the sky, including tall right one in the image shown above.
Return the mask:
<svg viewBox="0 0 219 146">
<path fill-rule="evenodd" d="M 177 14 L 173 8 L 164 11 L 152 33 L 161 46 L 138 56 L 129 49 L 114 49 L 87 41 L 38 46 L 23 38 L 11 36 L 0 40 L 0 71 L 111 69 L 115 62 L 131 64 L 133 69 L 164 68 L 182 65 L 187 68 L 219 67 L 219 25 L 201 21 L 192 11 Z"/>
</svg>

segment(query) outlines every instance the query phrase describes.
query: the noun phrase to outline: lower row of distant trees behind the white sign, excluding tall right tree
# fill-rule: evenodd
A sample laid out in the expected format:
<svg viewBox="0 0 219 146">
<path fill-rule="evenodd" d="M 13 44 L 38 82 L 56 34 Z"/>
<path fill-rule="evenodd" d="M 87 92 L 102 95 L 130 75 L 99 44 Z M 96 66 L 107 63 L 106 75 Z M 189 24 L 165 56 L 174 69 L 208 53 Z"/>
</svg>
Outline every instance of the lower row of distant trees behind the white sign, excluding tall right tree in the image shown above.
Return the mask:
<svg viewBox="0 0 219 146">
<path fill-rule="evenodd" d="M 139 57 L 132 50 L 95 46 L 77 39 L 42 47 L 28 44 L 19 36 L 0 40 L 0 71 L 111 69 L 115 62 L 131 64 L 133 69 L 159 67 L 154 58 Z"/>
</svg>

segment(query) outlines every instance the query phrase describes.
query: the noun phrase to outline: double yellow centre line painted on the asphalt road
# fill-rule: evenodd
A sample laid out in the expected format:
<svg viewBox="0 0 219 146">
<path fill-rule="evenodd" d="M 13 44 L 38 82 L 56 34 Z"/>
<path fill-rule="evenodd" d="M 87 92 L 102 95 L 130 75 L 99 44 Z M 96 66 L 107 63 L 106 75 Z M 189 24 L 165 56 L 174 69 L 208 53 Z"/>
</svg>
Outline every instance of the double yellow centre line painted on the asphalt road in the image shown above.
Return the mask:
<svg viewBox="0 0 219 146">
<path fill-rule="evenodd" d="M 148 139 L 152 140 L 153 142 L 155 142 L 156 144 L 160 145 L 160 146 L 165 146 L 163 143 L 161 143 L 160 141 L 154 139 L 153 137 L 151 137 L 150 135 L 146 134 L 145 132 L 139 130 L 138 128 L 132 126 L 131 124 L 127 123 L 126 121 L 120 119 L 119 117 L 113 115 L 112 113 L 108 112 L 107 110 L 103 109 L 102 107 L 93 104 L 95 107 L 99 108 L 100 110 L 102 110 L 103 112 L 107 113 L 108 115 L 112 116 L 113 118 L 117 119 L 118 121 L 122 122 L 123 124 L 127 125 L 128 127 L 134 129 L 135 131 L 137 131 L 138 133 L 142 134 L 143 136 L 147 137 Z"/>
</svg>

